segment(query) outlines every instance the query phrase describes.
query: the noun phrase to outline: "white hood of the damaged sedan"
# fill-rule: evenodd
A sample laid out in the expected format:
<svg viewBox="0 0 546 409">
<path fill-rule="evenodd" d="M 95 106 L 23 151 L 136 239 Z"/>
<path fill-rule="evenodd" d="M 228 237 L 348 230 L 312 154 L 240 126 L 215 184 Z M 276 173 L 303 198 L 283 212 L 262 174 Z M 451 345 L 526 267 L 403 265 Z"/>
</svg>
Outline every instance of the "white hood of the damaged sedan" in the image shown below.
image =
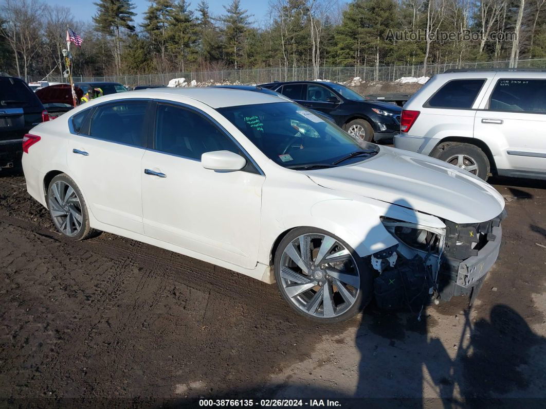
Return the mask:
<svg viewBox="0 0 546 409">
<path fill-rule="evenodd" d="M 461 224 L 489 221 L 505 206 L 502 196 L 478 177 L 438 159 L 387 146 L 354 165 L 303 173 L 325 188 Z"/>
</svg>

